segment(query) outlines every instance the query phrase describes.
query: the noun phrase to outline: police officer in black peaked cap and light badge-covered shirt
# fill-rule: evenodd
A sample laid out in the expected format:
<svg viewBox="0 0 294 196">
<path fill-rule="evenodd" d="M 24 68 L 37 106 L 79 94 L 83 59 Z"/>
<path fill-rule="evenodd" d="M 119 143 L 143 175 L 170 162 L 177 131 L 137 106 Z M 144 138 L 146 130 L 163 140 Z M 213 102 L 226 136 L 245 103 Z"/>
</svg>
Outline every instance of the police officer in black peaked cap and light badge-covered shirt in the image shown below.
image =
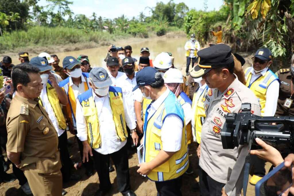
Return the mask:
<svg viewBox="0 0 294 196">
<path fill-rule="evenodd" d="M 199 63 L 190 72 L 202 77 L 209 89 L 205 96 L 206 119 L 202 126 L 199 159 L 199 185 L 202 196 L 240 195 L 247 145 L 223 149 L 220 132 L 228 113 L 238 113 L 242 103 L 251 103 L 252 113 L 260 115 L 254 93 L 244 86 L 234 71 L 231 48 L 217 44 L 198 51 Z"/>
</svg>

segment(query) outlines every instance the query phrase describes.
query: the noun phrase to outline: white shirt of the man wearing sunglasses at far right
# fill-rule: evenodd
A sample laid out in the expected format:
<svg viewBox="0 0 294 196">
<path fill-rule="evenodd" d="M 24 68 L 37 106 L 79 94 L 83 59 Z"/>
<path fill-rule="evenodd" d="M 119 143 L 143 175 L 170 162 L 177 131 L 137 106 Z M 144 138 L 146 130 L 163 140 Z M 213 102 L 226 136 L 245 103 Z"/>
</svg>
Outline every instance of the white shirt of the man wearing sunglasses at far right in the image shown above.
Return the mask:
<svg viewBox="0 0 294 196">
<path fill-rule="evenodd" d="M 265 76 L 268 69 L 263 70 L 260 73 L 255 73 L 254 69 L 251 69 L 252 77 L 250 84 L 253 83 L 258 77 Z M 266 100 L 263 116 L 274 116 L 277 110 L 278 98 L 279 98 L 280 83 L 278 80 L 273 81 L 266 89 Z"/>
</svg>

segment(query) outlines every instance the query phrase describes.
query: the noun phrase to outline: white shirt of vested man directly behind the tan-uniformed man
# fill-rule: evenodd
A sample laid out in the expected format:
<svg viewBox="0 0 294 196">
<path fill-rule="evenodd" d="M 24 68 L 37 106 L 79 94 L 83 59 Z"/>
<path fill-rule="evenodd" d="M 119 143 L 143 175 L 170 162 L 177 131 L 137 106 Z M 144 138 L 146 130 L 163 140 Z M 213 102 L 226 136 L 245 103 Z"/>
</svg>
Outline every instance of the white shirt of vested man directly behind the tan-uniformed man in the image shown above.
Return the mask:
<svg viewBox="0 0 294 196">
<path fill-rule="evenodd" d="M 57 118 L 55 116 L 55 113 L 54 113 L 54 111 L 52 109 L 51 103 L 49 102 L 49 99 L 48 99 L 48 96 L 47 96 L 46 85 L 47 84 L 43 85 L 43 89 L 41 91 L 40 98 L 42 100 L 43 107 L 45 108 L 46 112 L 48 113 L 48 116 L 49 116 L 52 124 L 54 125 L 54 128 L 55 128 L 55 130 L 57 132 L 57 135 L 59 137 L 62 133 L 64 133 L 64 130 L 59 128 L 58 120 L 57 120 Z"/>
</svg>

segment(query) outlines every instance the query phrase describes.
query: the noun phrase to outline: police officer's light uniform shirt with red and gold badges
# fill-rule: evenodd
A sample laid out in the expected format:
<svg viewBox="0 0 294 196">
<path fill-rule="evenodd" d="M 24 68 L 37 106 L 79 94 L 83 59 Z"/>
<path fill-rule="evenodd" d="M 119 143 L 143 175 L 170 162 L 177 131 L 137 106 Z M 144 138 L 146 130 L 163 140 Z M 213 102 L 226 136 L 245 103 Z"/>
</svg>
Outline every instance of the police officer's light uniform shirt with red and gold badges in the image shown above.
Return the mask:
<svg viewBox="0 0 294 196">
<path fill-rule="evenodd" d="M 236 75 L 233 83 L 219 96 L 218 94 L 218 89 L 209 88 L 205 97 L 206 119 L 202 125 L 199 165 L 211 178 L 227 184 L 225 190 L 228 195 L 239 195 L 243 186 L 242 171 L 248 148 L 243 145 L 238 149 L 224 150 L 220 132 L 226 115 L 240 112 L 242 103 L 251 103 L 255 115 L 260 115 L 260 106 L 254 93 Z M 244 150 L 241 156 L 242 148 Z"/>
</svg>

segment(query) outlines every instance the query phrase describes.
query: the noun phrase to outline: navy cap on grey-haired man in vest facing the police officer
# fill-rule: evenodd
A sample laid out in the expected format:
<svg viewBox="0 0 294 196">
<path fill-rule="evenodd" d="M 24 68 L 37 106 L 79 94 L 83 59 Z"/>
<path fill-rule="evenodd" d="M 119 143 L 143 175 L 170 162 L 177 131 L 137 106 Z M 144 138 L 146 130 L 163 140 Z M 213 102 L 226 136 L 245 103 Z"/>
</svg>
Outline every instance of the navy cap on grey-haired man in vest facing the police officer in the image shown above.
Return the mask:
<svg viewBox="0 0 294 196">
<path fill-rule="evenodd" d="M 140 86 L 147 86 L 149 84 L 152 84 L 153 82 L 156 82 L 155 79 L 155 73 L 158 72 L 153 67 L 145 67 L 144 69 L 141 69 L 136 73 L 136 82 L 137 85 L 133 88 L 133 91 L 135 91 Z"/>
</svg>

